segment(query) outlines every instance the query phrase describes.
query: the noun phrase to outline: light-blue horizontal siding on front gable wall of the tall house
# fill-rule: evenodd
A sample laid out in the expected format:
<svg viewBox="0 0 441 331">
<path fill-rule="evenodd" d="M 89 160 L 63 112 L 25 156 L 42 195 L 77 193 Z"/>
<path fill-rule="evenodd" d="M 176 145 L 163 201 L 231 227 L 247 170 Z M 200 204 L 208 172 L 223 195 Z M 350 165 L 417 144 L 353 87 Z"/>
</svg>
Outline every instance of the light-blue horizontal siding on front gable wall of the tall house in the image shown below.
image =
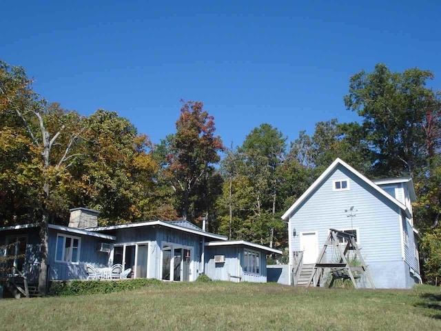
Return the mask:
<svg viewBox="0 0 441 331">
<path fill-rule="evenodd" d="M 349 179 L 350 190 L 339 192 L 333 190 L 333 181 L 341 179 Z M 366 263 L 373 265 L 373 263 L 402 261 L 400 208 L 342 165 L 338 165 L 315 192 L 294 211 L 289 219 L 291 229 L 295 228 L 297 234 L 318 231 L 318 252 L 320 252 L 329 234 L 329 228 L 351 228 L 351 218 L 347 217 L 345 212 L 351 206 L 356 210 L 352 226 L 359 230 L 358 241 Z M 300 250 L 300 235 L 293 237 L 292 233 L 289 233 L 289 240 L 291 250 Z M 376 278 L 374 273 L 371 272 L 372 277 Z M 405 287 L 404 275 L 400 279 L 402 283 L 396 287 Z"/>
</svg>

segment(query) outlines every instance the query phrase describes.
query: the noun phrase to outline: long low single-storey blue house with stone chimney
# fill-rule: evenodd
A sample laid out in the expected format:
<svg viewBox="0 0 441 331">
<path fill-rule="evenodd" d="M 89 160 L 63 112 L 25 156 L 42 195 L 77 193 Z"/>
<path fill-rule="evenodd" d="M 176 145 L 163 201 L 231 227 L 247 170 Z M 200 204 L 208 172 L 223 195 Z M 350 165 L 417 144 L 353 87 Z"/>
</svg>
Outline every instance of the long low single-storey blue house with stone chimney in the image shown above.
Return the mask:
<svg viewBox="0 0 441 331">
<path fill-rule="evenodd" d="M 266 255 L 282 253 L 256 243 L 229 241 L 189 221 L 99 227 L 98 214 L 74 208 L 69 226 L 49 225 L 48 281 L 86 279 L 86 265 L 106 268 L 121 264 L 124 270 L 132 270 L 130 278 L 195 281 L 206 274 L 214 280 L 266 282 Z M 14 270 L 25 274 L 29 283 L 37 283 L 39 226 L 0 228 L 0 245 L 10 245 L 0 254 L 15 257 L 10 261 Z"/>
</svg>

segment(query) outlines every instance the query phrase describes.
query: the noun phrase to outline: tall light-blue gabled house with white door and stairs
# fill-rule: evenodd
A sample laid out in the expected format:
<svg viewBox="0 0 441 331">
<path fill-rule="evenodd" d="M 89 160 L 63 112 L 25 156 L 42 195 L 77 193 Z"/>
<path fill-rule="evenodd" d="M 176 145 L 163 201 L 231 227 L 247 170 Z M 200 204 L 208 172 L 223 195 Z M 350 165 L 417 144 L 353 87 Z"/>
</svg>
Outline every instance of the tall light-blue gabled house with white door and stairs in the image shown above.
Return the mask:
<svg viewBox="0 0 441 331">
<path fill-rule="evenodd" d="M 333 228 L 356 237 L 376 288 L 411 288 L 421 282 L 414 201 L 410 177 L 371 181 L 336 159 L 283 214 L 289 270 L 302 265 L 302 277 L 309 279 Z"/>
</svg>

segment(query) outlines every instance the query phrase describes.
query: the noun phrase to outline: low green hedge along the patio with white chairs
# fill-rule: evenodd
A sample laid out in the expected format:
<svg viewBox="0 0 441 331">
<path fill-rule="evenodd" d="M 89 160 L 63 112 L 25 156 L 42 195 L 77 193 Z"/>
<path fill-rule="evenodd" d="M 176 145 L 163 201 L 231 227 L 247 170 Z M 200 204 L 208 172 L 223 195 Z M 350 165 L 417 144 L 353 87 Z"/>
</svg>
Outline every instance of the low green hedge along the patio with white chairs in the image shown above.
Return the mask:
<svg viewBox="0 0 441 331">
<path fill-rule="evenodd" d="M 98 293 L 113 293 L 137 290 L 162 283 L 158 279 L 124 279 L 121 281 L 53 281 L 49 295 L 68 296 Z"/>
</svg>

